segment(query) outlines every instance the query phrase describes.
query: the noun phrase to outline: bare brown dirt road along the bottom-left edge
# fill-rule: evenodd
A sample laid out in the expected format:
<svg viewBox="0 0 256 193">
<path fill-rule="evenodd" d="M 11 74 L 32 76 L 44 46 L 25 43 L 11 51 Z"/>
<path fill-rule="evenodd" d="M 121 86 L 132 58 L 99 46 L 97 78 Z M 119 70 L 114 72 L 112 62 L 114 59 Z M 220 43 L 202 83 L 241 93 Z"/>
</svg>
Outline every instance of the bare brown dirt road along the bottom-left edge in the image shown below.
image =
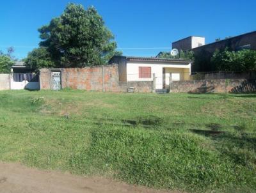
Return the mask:
<svg viewBox="0 0 256 193">
<path fill-rule="evenodd" d="M 20 164 L 0 163 L 0 192 L 167 192 L 127 185 L 106 178 L 82 177 L 56 171 L 40 171 Z"/>
</svg>

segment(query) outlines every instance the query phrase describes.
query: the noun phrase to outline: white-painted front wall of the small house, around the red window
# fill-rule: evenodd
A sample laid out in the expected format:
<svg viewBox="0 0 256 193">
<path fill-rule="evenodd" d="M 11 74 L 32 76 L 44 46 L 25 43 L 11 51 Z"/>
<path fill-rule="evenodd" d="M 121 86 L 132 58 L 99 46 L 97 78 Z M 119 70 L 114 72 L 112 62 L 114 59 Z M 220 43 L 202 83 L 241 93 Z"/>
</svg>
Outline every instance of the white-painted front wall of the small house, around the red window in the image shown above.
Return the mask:
<svg viewBox="0 0 256 193">
<path fill-rule="evenodd" d="M 147 66 L 151 67 L 151 78 L 139 78 L 139 67 Z M 156 75 L 156 89 L 163 88 L 163 68 L 172 68 L 173 71 L 179 72 L 183 74 L 183 69 L 187 68 L 190 70 L 191 64 L 189 63 L 154 63 L 154 62 L 127 62 L 127 82 L 135 82 L 135 81 L 153 81 L 153 73 Z M 169 71 L 168 73 L 170 73 Z M 188 71 L 187 71 L 188 72 Z M 180 75 L 181 76 L 181 75 Z"/>
</svg>

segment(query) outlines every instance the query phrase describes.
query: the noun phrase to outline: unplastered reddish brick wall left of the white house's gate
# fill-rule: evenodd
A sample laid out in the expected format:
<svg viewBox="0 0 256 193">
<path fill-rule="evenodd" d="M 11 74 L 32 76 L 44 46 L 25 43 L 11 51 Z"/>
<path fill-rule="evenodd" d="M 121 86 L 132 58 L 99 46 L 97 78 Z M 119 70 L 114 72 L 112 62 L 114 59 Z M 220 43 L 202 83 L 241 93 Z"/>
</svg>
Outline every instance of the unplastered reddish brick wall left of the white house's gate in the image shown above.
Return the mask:
<svg viewBox="0 0 256 193">
<path fill-rule="evenodd" d="M 127 92 L 129 87 L 134 87 L 136 92 L 152 92 L 152 82 L 120 82 L 118 65 L 43 68 L 40 70 L 40 89 L 52 89 L 52 72 L 61 72 L 61 88 Z"/>
</svg>

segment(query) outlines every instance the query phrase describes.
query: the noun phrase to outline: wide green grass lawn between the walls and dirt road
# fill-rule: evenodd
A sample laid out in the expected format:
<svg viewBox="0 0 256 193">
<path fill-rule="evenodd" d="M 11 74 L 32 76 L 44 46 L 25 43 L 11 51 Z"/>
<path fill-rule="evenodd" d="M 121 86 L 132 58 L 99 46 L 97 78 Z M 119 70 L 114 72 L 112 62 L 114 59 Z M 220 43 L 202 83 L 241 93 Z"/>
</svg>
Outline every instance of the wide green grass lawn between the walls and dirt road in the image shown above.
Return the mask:
<svg viewBox="0 0 256 193">
<path fill-rule="evenodd" d="M 157 189 L 256 191 L 255 94 L 0 91 L 0 128 L 6 162 Z"/>
</svg>

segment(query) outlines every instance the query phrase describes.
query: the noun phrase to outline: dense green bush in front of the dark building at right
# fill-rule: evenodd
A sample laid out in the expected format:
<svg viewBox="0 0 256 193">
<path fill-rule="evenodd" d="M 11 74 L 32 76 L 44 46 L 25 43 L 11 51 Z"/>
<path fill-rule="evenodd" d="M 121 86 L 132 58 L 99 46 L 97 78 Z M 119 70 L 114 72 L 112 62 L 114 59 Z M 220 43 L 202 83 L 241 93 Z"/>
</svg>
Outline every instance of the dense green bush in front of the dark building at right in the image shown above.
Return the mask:
<svg viewBox="0 0 256 193">
<path fill-rule="evenodd" d="M 252 71 L 256 70 L 256 51 L 239 50 L 237 52 L 229 51 L 226 48 L 223 51 L 216 50 L 211 58 L 211 63 L 221 71 Z"/>
</svg>

